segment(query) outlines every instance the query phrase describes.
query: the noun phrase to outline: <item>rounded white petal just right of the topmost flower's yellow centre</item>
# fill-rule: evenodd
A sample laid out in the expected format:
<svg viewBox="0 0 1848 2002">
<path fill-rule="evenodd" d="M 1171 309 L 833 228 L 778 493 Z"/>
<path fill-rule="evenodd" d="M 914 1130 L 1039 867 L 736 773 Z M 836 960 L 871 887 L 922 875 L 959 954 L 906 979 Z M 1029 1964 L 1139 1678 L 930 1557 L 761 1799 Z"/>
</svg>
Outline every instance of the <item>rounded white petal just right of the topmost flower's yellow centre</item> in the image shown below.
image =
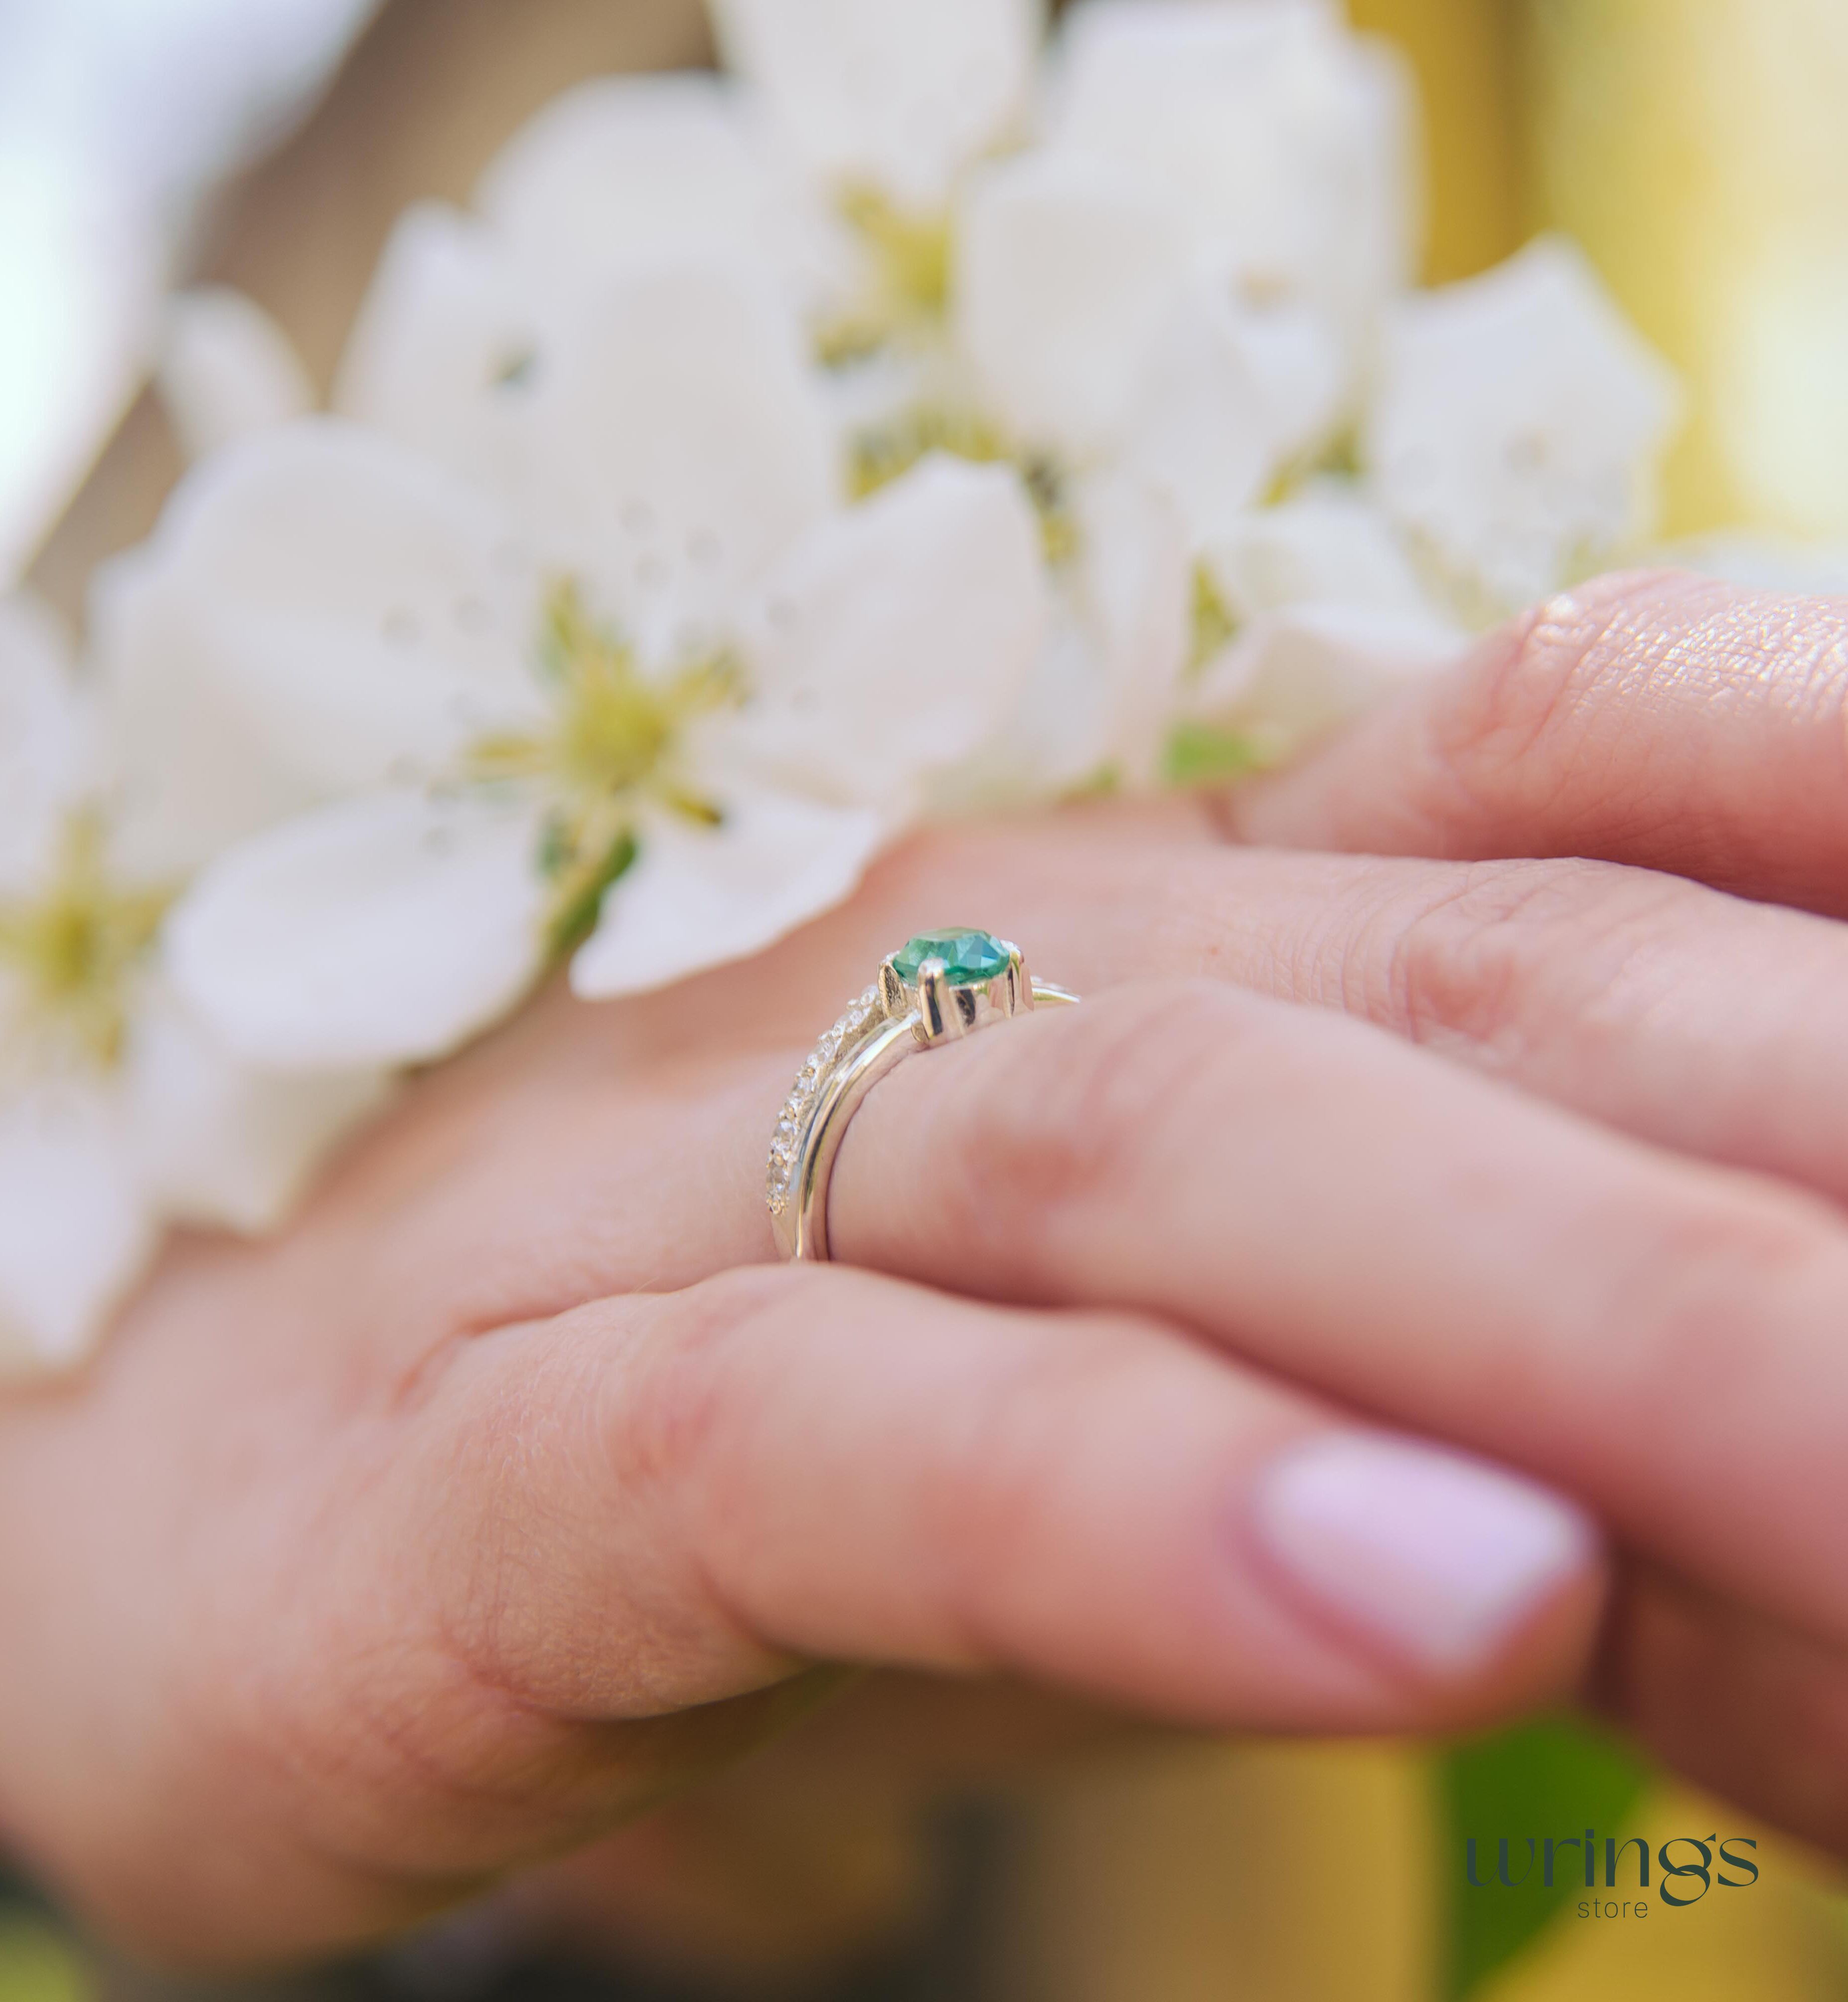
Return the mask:
<svg viewBox="0 0 1848 2002">
<path fill-rule="evenodd" d="M 1087 458 L 1117 446 L 1185 282 L 1173 214 L 1089 160 L 1025 154 L 985 172 L 957 240 L 957 338 L 1021 438 Z"/>
</svg>

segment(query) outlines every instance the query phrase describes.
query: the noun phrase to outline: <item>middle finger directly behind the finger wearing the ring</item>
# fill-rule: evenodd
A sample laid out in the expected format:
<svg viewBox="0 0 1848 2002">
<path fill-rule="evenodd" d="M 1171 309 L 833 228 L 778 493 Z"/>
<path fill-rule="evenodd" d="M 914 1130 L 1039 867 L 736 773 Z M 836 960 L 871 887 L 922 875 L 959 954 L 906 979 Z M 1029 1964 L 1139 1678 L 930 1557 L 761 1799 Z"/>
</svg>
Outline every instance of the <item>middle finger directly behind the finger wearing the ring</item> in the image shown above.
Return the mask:
<svg viewBox="0 0 1848 2002">
<path fill-rule="evenodd" d="M 1642 1139 L 1848 1201 L 1848 929 L 1828 919 L 1610 863 L 1299 855 L 1075 821 L 913 851 L 875 885 L 887 933 L 953 909 L 973 879 L 1035 967 L 1083 993 L 1209 975 L 1339 1009 Z M 741 1129 L 735 1151 L 759 1139 Z"/>
</svg>

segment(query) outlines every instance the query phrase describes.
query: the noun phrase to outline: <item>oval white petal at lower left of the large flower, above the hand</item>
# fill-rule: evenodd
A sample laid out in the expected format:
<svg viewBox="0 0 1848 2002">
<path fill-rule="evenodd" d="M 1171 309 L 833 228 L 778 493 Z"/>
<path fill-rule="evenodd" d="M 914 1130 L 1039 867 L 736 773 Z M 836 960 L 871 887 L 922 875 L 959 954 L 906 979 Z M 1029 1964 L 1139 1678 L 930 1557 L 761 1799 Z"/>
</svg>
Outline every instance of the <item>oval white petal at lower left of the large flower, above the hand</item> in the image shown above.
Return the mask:
<svg viewBox="0 0 1848 2002">
<path fill-rule="evenodd" d="M 368 793 L 234 849 L 166 927 L 176 991 L 242 1063 L 338 1071 L 442 1057 L 543 963 L 531 811 Z"/>
</svg>

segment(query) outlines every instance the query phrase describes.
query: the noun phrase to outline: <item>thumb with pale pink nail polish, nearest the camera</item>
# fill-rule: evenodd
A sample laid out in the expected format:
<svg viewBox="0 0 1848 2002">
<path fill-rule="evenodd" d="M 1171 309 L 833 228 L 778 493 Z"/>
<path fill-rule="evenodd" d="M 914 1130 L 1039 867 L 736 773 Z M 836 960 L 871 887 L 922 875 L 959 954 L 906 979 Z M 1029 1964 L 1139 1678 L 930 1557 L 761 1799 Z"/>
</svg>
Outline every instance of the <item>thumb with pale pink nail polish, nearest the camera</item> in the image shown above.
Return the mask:
<svg viewBox="0 0 1848 2002">
<path fill-rule="evenodd" d="M 481 1453 L 479 1516 L 432 1546 L 446 1628 L 553 1714 L 647 1718 L 831 1660 L 1377 1730 L 1556 1682 L 1556 1628 L 1538 1658 L 1510 1642 L 1568 1584 L 1584 1636 L 1574 1510 L 1141 1317 L 729 1273 L 475 1343 L 430 1435 Z M 535 1437 L 555 1449 L 497 1445 Z M 1478 1548 L 1440 1497 L 1498 1530 Z"/>
</svg>

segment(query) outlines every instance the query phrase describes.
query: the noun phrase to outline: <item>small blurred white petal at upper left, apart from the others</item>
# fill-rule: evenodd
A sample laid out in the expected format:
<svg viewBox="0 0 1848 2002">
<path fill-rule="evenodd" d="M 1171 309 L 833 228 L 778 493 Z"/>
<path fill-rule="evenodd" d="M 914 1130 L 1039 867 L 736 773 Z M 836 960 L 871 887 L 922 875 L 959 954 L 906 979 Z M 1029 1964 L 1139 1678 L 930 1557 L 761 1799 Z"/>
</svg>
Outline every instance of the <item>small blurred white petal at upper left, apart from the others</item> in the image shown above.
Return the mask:
<svg viewBox="0 0 1848 2002">
<path fill-rule="evenodd" d="M 188 458 L 314 408 L 314 386 L 288 336 L 254 298 L 228 284 L 168 300 L 158 378 Z"/>
</svg>

